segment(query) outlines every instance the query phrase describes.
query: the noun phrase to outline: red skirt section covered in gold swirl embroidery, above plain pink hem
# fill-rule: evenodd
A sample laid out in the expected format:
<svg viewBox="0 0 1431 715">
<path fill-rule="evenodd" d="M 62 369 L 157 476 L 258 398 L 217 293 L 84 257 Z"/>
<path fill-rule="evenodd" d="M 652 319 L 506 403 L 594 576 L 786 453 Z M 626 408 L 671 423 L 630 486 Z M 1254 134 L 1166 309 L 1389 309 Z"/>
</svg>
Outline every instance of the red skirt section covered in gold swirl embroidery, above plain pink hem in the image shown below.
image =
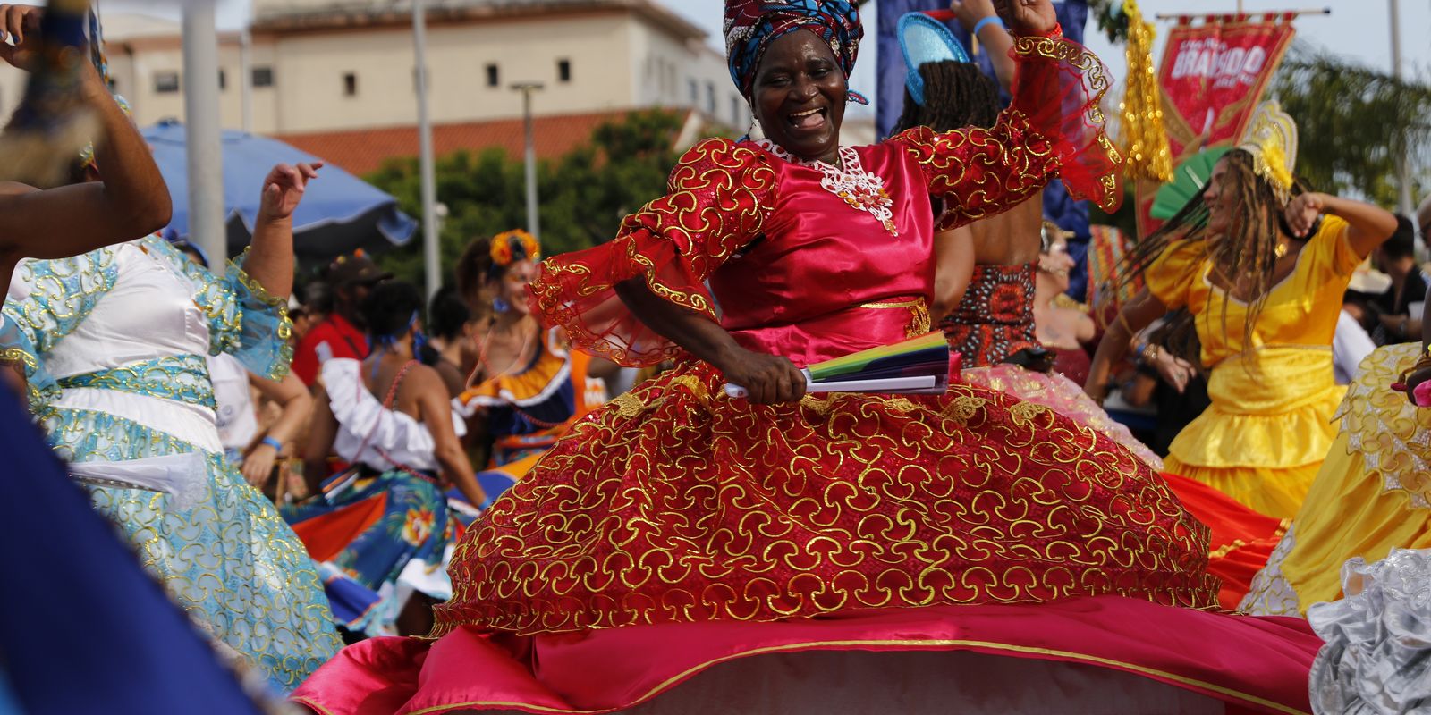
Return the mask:
<svg viewBox="0 0 1431 715">
<path fill-rule="evenodd" d="M 677 370 L 633 390 L 634 420 L 594 412 L 472 525 L 434 636 L 1092 593 L 1216 606 L 1206 526 L 1053 410 L 1020 425 L 1017 402 L 962 383 L 703 408 L 671 386 L 716 396 L 723 376 Z"/>
</svg>

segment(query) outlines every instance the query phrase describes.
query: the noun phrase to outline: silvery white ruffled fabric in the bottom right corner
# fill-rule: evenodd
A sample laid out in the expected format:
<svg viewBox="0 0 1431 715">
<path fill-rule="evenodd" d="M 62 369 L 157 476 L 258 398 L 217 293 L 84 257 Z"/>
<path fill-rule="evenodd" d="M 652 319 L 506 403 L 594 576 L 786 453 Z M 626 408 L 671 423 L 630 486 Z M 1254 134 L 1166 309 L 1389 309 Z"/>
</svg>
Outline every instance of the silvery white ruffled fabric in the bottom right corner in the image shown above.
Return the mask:
<svg viewBox="0 0 1431 715">
<path fill-rule="evenodd" d="M 1431 712 L 1431 551 L 1392 549 L 1369 565 L 1355 558 L 1341 576 L 1347 598 L 1307 612 L 1327 641 L 1312 664 L 1312 711 Z"/>
</svg>

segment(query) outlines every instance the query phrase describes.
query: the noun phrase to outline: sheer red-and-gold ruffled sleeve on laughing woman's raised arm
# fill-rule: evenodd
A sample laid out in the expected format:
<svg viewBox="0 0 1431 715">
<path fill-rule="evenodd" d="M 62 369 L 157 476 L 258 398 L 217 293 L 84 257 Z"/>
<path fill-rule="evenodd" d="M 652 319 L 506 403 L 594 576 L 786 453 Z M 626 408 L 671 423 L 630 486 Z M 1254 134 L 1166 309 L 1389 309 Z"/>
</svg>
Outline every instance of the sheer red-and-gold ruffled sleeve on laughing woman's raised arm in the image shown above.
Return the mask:
<svg viewBox="0 0 1431 715">
<path fill-rule="evenodd" d="M 1059 33 L 1017 37 L 1009 54 L 1017 63 L 1013 104 L 993 127 L 946 133 L 914 127 L 890 139 L 923 167 L 930 193 L 944 199 L 939 229 L 1016 206 L 1053 176 L 1075 199 L 1116 210 L 1123 200 L 1123 160 L 1103 132 L 1099 102 L 1109 86 L 1103 63 Z"/>
</svg>

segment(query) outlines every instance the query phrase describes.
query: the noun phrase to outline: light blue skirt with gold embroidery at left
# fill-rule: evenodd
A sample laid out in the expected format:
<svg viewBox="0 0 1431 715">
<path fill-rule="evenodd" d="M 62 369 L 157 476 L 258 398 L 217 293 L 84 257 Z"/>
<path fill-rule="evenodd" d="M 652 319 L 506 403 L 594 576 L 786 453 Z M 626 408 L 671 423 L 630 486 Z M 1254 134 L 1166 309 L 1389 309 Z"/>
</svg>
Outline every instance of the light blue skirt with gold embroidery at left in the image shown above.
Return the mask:
<svg viewBox="0 0 1431 715">
<path fill-rule="evenodd" d="M 52 408 L 41 425 L 70 462 L 197 452 L 172 435 L 103 412 Z M 86 489 L 173 601 L 286 695 L 342 646 L 323 585 L 273 503 L 220 455 L 206 456 L 205 493 L 190 508 L 160 492 Z"/>
</svg>

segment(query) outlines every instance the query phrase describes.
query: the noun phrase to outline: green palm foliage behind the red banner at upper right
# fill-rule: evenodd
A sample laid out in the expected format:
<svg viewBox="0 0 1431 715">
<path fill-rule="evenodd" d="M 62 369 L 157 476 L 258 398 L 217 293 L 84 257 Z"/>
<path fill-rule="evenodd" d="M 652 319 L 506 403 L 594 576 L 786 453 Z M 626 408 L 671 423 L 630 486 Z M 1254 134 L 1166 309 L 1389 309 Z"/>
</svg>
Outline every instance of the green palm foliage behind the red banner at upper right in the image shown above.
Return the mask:
<svg viewBox="0 0 1431 715">
<path fill-rule="evenodd" d="M 1431 159 L 1431 86 L 1424 80 L 1398 80 L 1298 41 L 1268 96 L 1296 119 L 1296 173 L 1317 190 L 1395 206 L 1397 160 L 1405 156 L 1420 200 L 1415 186 L 1427 186 Z"/>
</svg>

